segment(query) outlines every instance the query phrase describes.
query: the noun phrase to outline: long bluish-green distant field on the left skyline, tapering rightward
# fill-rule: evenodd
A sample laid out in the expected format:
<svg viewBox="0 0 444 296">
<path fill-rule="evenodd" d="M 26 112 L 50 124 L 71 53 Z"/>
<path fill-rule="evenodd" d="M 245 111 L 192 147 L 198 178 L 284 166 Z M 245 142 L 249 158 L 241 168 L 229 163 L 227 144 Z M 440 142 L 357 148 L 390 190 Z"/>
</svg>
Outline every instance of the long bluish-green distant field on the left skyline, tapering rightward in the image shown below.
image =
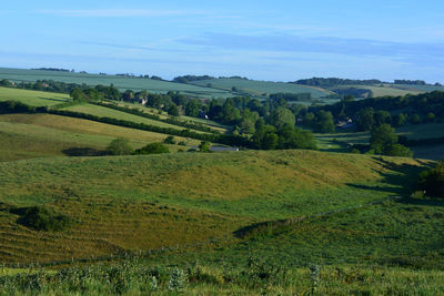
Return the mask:
<svg viewBox="0 0 444 296">
<path fill-rule="evenodd" d="M 226 98 L 230 96 L 230 92 L 201 88 L 190 84 L 173 83 L 169 81 L 160 81 L 152 79 L 142 78 L 125 78 L 117 75 L 99 75 L 99 74 L 85 74 L 85 73 L 69 73 L 69 72 L 57 72 L 57 71 L 44 71 L 44 70 L 23 70 L 23 69 L 7 69 L 0 68 L 0 79 L 8 79 L 20 83 L 36 82 L 37 80 L 53 80 L 65 83 L 78 83 L 95 86 L 98 84 L 111 85 L 121 91 L 125 90 L 148 90 L 152 93 L 167 93 L 169 91 L 179 91 L 183 94 L 203 96 L 203 98 Z"/>
</svg>

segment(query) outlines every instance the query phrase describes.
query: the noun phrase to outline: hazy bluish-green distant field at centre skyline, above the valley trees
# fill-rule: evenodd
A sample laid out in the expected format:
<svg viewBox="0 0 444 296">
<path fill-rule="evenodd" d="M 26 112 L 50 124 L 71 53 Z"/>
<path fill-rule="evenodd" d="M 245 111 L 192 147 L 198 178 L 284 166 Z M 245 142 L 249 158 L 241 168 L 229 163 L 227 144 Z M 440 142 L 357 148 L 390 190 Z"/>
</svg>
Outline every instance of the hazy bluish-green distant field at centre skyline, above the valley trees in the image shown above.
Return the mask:
<svg viewBox="0 0 444 296">
<path fill-rule="evenodd" d="M 214 80 L 201 80 L 190 82 L 194 85 L 209 86 L 231 91 L 232 88 L 236 88 L 238 92 L 249 93 L 254 96 L 265 96 L 268 93 L 311 93 L 312 98 L 322 98 L 329 94 L 327 91 L 320 90 L 316 88 L 310 88 L 305 85 L 299 85 L 294 83 L 284 82 L 272 82 L 272 81 L 258 81 L 258 80 L 244 80 L 244 79 L 214 79 Z M 209 84 L 210 83 L 210 84 Z"/>
</svg>

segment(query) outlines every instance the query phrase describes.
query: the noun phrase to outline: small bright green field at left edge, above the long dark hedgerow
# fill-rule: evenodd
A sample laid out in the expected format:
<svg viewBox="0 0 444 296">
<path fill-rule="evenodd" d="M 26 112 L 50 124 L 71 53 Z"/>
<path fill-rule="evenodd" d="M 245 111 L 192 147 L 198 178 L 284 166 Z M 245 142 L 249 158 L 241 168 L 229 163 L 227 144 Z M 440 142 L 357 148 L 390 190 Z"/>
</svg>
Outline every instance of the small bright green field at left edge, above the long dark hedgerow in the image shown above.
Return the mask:
<svg viewBox="0 0 444 296">
<path fill-rule="evenodd" d="M 0 101 L 19 101 L 28 105 L 44 106 L 65 103 L 71 99 L 64 93 L 0 88 Z"/>
</svg>

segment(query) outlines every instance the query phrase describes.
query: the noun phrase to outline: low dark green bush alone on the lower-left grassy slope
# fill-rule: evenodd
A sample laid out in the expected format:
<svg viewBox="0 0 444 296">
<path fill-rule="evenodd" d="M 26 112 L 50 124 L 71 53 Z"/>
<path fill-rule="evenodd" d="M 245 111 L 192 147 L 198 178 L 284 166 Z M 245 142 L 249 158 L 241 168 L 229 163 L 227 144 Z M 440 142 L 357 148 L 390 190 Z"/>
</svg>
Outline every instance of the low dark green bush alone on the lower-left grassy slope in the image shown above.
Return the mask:
<svg viewBox="0 0 444 296">
<path fill-rule="evenodd" d="M 18 208 L 16 213 L 22 214 L 18 221 L 20 224 L 36 231 L 60 232 L 71 225 L 71 220 L 68 216 L 57 214 L 42 206 Z"/>
</svg>

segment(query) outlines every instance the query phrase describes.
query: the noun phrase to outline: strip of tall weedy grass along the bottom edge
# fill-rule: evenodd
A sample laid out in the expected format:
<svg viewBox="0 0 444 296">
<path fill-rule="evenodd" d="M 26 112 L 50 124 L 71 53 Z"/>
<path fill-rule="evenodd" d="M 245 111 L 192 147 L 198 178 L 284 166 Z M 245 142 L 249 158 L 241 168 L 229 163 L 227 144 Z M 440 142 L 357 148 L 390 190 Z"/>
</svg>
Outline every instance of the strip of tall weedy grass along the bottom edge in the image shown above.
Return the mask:
<svg viewBox="0 0 444 296">
<path fill-rule="evenodd" d="M 0 277 L 1 295 L 441 295 L 444 273 L 379 266 L 280 268 L 167 267 L 125 261 L 58 272 L 30 269 Z"/>
</svg>

